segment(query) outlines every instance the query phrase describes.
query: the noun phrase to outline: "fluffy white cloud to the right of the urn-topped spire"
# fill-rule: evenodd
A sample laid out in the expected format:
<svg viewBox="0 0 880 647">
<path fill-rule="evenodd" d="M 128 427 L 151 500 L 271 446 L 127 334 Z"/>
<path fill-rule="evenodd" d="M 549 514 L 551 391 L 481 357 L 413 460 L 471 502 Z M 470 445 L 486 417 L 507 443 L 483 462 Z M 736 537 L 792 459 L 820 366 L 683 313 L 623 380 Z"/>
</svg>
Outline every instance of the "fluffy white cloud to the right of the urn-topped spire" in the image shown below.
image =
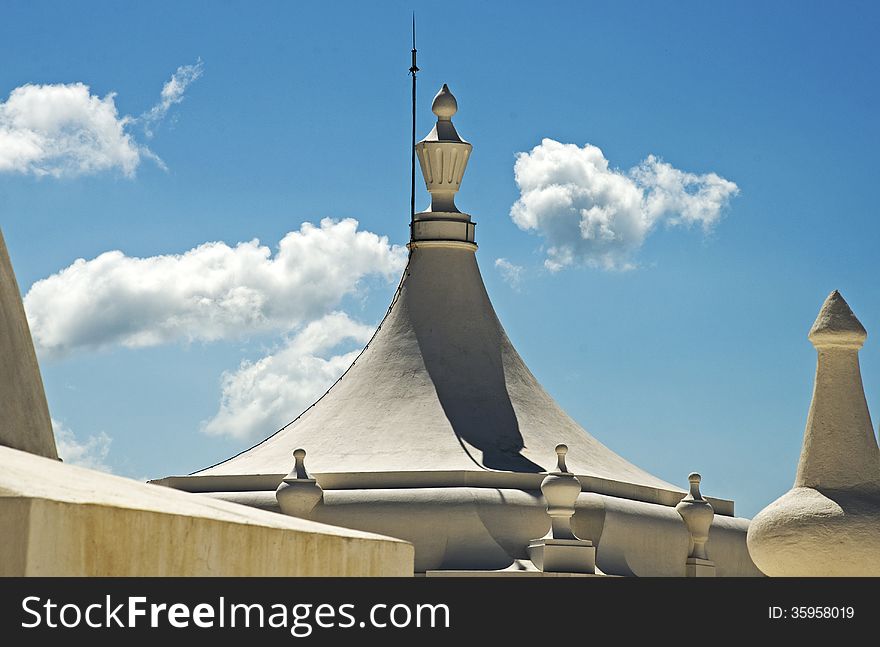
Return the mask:
<svg viewBox="0 0 880 647">
<path fill-rule="evenodd" d="M 544 139 L 514 166 L 520 198 L 510 216 L 548 244 L 545 266 L 633 267 L 633 257 L 659 223 L 709 230 L 739 193 L 715 173 L 680 171 L 649 155 L 628 172 L 609 168 L 596 146 Z"/>
</svg>

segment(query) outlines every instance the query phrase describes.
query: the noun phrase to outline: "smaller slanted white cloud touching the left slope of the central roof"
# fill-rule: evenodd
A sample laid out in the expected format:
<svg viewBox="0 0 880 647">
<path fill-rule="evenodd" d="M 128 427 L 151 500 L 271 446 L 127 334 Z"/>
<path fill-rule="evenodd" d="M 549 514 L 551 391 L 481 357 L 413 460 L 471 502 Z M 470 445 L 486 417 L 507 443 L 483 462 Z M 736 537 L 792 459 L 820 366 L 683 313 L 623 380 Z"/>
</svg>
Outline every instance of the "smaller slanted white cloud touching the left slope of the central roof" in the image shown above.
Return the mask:
<svg viewBox="0 0 880 647">
<path fill-rule="evenodd" d="M 280 429 L 342 375 L 373 331 L 336 312 L 305 326 L 276 353 L 242 362 L 223 374 L 220 408 L 202 431 L 248 439 Z M 348 351 L 338 352 L 341 346 Z"/>
</svg>

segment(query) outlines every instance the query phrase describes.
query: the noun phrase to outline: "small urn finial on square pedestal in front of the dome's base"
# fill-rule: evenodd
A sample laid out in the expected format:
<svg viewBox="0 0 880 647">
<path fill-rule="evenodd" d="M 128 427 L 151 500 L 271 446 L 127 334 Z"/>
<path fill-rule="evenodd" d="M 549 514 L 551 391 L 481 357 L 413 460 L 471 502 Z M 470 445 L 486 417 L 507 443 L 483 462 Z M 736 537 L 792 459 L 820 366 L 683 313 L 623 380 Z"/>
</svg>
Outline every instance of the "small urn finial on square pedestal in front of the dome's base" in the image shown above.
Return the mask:
<svg viewBox="0 0 880 647">
<path fill-rule="evenodd" d="M 556 469 L 541 481 L 547 501 L 550 531 L 529 543 L 529 559 L 545 572 L 595 573 L 596 549 L 593 542 L 580 539 L 571 527 L 581 483 L 565 466 L 568 446 L 556 446 Z"/>
</svg>

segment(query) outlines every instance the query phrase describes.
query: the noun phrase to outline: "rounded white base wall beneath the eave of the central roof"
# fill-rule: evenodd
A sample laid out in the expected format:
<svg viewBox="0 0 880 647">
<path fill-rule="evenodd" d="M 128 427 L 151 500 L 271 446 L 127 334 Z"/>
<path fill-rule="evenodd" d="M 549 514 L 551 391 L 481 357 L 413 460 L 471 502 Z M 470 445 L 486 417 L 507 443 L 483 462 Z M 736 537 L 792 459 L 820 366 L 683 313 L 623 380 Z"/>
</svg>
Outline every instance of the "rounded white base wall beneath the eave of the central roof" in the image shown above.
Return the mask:
<svg viewBox="0 0 880 647">
<path fill-rule="evenodd" d="M 272 491 L 208 496 L 279 509 Z M 596 545 L 603 573 L 684 576 L 688 531 L 675 508 L 582 492 L 575 510 L 572 528 Z M 311 518 L 412 542 L 417 572 L 507 568 L 528 559 L 529 542 L 550 527 L 540 490 L 505 488 L 325 490 Z M 707 550 L 719 576 L 761 574 L 746 547 L 748 525 L 747 519 L 715 516 Z"/>
</svg>

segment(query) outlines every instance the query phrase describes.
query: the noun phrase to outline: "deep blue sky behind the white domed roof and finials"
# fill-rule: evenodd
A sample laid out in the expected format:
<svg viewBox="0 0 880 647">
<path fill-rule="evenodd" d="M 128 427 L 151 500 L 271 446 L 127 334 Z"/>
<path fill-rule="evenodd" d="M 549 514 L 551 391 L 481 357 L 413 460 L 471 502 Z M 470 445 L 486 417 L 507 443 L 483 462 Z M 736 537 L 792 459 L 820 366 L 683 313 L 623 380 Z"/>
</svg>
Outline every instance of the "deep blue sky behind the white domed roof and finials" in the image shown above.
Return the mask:
<svg viewBox="0 0 880 647">
<path fill-rule="evenodd" d="M 419 135 L 449 83 L 474 144 L 457 203 L 478 222 L 487 288 L 532 371 L 588 431 L 668 481 L 700 471 L 704 491 L 755 514 L 793 481 L 815 363 L 806 332 L 833 289 L 868 329 L 862 373 L 876 417 L 875 4 L 7 2 L 7 113 L 28 84 L 82 83 L 79 99 L 95 101 L 115 93 L 114 136 L 138 160 L 76 171 L 43 142 L 42 158 L 7 150 L 4 167 L 0 150 L 0 225 L 23 294 L 76 259 L 124 254 L 108 290 L 131 307 L 109 319 L 89 308 L 84 280 L 29 297 L 29 315 L 39 308 L 66 344 L 37 346 L 72 447 L 136 478 L 209 465 L 274 431 L 210 427 L 224 393 L 234 409 L 248 391 L 233 390 L 257 369 L 293 366 L 299 386 L 282 403 L 292 419 L 378 322 L 393 246 L 408 233 L 412 10 Z M 198 78 L 148 123 L 181 68 Z M 674 209 L 658 218 L 625 254 L 630 269 L 597 265 L 588 247 L 554 271 L 553 231 L 525 231 L 510 215 L 522 197 L 516 156 L 544 138 L 598 147 L 616 177 L 654 155 L 738 193 L 691 226 L 676 225 Z M 275 258 L 288 232 L 322 218 L 356 219 L 360 234 L 321 235 L 364 249 L 345 263 L 316 257 L 340 273 L 330 297 L 300 298 L 308 273 L 259 292 L 271 272 L 253 255 L 242 261 L 255 264 L 249 289 L 290 304 L 263 304 L 256 324 L 222 320 L 240 304 L 180 319 L 189 305 L 169 297 L 157 314 L 125 291 L 141 273 L 173 291 L 189 266 L 154 257 L 223 241 L 218 253 L 239 259 L 235 245 L 259 239 Z M 517 285 L 499 258 L 521 268 Z M 323 318 L 332 312 L 346 316 Z M 315 322 L 335 336 L 310 336 Z"/>
</svg>

